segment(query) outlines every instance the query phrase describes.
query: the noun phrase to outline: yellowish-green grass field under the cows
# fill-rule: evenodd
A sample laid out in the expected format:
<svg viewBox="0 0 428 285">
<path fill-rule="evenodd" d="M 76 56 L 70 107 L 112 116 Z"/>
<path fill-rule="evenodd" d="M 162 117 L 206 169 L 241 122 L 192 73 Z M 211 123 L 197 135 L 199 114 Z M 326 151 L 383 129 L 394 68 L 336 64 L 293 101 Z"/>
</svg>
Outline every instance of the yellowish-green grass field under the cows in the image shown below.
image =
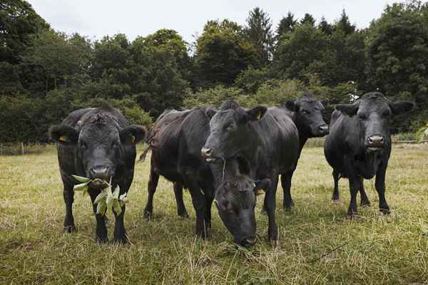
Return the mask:
<svg viewBox="0 0 428 285">
<path fill-rule="evenodd" d="M 128 195 L 131 244 L 98 245 L 90 199 L 80 193 L 73 208 L 78 232 L 62 232 L 65 205 L 54 147 L 37 155 L 0 157 L 0 283 L 428 283 L 427 145 L 392 150 L 386 194 L 392 216 L 378 216 L 374 181 L 366 181 L 372 207 L 359 207 L 360 216 L 352 221 L 345 219 L 347 180 L 340 180 L 342 203 L 332 204 L 332 171 L 322 148 L 306 148 L 292 181 L 296 207 L 291 212 L 282 211 L 278 191 L 275 248 L 265 240 L 267 217 L 259 214 L 260 199 L 259 241 L 250 249 L 233 245 L 215 207 L 210 239 L 195 238 L 190 195 L 184 193 L 190 219 L 177 217 L 172 185 L 163 179 L 154 217 L 144 220 L 148 169 L 148 160 L 138 163 Z M 112 239 L 112 217 L 108 230 Z"/>
</svg>

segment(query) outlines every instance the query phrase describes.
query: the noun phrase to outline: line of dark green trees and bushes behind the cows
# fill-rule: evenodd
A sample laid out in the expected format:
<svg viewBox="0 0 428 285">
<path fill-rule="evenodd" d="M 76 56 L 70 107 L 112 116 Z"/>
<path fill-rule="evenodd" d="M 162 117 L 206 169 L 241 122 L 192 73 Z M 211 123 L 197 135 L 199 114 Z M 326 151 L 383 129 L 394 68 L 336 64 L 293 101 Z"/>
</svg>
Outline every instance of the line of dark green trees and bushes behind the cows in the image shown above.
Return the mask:
<svg viewBox="0 0 428 285">
<path fill-rule="evenodd" d="M 379 90 L 416 110 L 394 132 L 428 120 L 428 4 L 387 6 L 368 28 L 256 7 L 244 24 L 210 20 L 193 43 L 173 29 L 130 41 L 55 31 L 22 0 L 0 4 L 0 142 L 47 142 L 72 110 L 112 105 L 150 124 L 167 108 L 278 105 L 308 90 L 331 105 Z M 331 107 L 330 107 L 331 110 Z M 328 119 L 328 118 L 327 118 Z"/>
</svg>

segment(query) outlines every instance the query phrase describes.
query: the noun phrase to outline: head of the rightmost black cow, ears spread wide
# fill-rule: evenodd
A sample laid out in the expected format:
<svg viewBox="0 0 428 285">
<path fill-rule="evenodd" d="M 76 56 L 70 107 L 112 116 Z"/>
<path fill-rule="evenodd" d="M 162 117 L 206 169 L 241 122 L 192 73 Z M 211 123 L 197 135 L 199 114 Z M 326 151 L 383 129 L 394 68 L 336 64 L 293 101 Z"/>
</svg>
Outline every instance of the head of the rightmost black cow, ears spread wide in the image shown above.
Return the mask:
<svg viewBox="0 0 428 285">
<path fill-rule="evenodd" d="M 361 134 L 365 149 L 375 152 L 390 144 L 389 118 L 409 112 L 413 107 L 412 102 L 391 102 L 382 93 L 372 92 L 362 95 L 355 103 L 339 104 L 336 109 L 357 116 L 359 130 L 354 131 Z"/>
</svg>

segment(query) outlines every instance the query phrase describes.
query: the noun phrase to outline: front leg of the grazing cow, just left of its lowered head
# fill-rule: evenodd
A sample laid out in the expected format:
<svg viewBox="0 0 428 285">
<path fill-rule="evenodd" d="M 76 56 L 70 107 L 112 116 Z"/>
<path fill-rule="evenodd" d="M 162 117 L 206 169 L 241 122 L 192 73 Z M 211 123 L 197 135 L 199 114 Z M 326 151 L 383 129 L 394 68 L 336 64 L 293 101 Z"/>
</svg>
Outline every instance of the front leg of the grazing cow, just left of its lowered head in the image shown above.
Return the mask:
<svg viewBox="0 0 428 285">
<path fill-rule="evenodd" d="M 208 237 L 208 225 L 205 222 L 206 218 L 206 199 L 200 191 L 200 187 L 196 185 L 197 183 L 190 183 L 189 192 L 192 196 L 193 207 L 196 212 L 196 234 L 199 237 L 205 239 Z"/>
</svg>

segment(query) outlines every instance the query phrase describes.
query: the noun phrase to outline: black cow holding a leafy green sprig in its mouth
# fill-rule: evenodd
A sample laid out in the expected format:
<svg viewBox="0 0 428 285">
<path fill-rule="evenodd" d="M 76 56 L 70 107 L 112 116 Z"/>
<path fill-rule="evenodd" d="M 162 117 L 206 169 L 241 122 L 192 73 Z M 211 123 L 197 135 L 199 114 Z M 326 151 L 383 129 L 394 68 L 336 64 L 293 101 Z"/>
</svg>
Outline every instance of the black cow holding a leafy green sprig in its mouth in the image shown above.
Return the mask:
<svg viewBox="0 0 428 285">
<path fill-rule="evenodd" d="M 144 139 L 146 128 L 129 125 L 119 110 L 109 107 L 76 110 L 61 125 L 53 125 L 49 135 L 57 142 L 58 162 L 63 180 L 63 197 L 66 202 L 66 232 L 76 230 L 73 219 L 73 185 L 78 184 L 71 175 L 88 177 L 91 180 L 111 180 L 113 189 L 118 185 L 120 195 L 128 192 L 133 180 L 136 159 L 136 142 Z M 102 185 L 101 185 L 102 186 Z M 100 185 L 89 184 L 88 193 L 92 202 L 101 192 Z M 96 214 L 96 240 L 106 242 L 105 219 Z M 114 241 L 127 241 L 122 212 L 116 215 Z"/>
</svg>

